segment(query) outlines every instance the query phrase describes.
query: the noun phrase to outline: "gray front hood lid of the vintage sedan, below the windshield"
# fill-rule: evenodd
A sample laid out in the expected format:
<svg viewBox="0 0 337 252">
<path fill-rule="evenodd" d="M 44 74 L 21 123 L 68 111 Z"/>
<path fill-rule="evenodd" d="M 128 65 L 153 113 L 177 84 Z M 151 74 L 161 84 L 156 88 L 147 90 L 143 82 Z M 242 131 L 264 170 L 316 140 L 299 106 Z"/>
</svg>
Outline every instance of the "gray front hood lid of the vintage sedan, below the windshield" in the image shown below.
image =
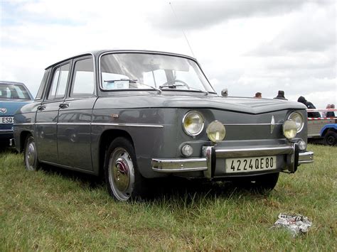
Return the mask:
<svg viewBox="0 0 337 252">
<path fill-rule="evenodd" d="M 139 99 L 137 99 L 139 98 Z M 284 109 L 306 109 L 304 104 L 279 99 L 256 99 L 245 97 L 218 96 L 170 96 L 170 95 L 125 95 L 118 97 L 102 97 L 95 108 L 205 108 L 237 111 L 247 114 L 261 114 Z M 127 104 L 127 106 L 126 106 Z"/>
</svg>

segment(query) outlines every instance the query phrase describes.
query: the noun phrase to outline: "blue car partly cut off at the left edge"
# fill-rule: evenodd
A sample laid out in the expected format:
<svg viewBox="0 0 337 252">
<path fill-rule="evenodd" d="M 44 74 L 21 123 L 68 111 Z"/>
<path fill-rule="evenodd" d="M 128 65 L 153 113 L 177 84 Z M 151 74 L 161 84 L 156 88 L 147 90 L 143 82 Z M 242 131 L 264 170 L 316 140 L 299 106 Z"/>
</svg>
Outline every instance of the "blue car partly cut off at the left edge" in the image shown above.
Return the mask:
<svg viewBox="0 0 337 252">
<path fill-rule="evenodd" d="M 13 119 L 16 110 L 31 102 L 33 97 L 20 82 L 0 81 L 0 145 L 9 146 L 13 138 Z"/>
</svg>

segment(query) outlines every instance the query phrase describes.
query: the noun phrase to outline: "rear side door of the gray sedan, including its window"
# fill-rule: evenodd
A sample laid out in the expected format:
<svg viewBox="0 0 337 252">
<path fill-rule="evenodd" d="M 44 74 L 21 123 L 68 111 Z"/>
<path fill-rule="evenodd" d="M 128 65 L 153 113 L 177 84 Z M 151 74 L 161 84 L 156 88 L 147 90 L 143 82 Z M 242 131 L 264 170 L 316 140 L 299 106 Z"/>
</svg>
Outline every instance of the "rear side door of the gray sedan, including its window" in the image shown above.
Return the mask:
<svg viewBox="0 0 337 252">
<path fill-rule="evenodd" d="M 36 148 L 39 159 L 58 163 L 58 111 L 65 99 L 71 62 L 53 67 L 46 96 L 36 111 Z"/>
</svg>

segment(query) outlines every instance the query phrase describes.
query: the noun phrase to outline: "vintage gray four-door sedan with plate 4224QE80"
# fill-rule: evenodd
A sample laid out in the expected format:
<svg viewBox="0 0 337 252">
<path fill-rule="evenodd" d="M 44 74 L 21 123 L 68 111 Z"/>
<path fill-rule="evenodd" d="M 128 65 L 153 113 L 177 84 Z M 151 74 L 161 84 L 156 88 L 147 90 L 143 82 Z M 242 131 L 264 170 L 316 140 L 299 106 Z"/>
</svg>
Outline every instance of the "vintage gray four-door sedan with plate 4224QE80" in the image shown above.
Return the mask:
<svg viewBox="0 0 337 252">
<path fill-rule="evenodd" d="M 306 106 L 219 97 L 193 57 L 104 50 L 50 65 L 14 116 L 27 170 L 41 163 L 105 175 L 119 201 L 170 175 L 272 190 L 279 172 L 313 162 Z"/>
</svg>

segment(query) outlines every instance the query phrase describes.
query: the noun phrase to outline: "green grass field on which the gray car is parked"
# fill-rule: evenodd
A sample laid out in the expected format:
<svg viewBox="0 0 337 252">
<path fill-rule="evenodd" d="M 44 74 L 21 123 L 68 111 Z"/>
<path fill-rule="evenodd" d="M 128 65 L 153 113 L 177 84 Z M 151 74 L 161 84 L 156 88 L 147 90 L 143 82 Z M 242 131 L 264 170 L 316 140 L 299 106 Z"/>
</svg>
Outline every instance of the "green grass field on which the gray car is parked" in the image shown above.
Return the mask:
<svg viewBox="0 0 337 252">
<path fill-rule="evenodd" d="M 27 172 L 23 156 L 5 150 L 0 251 L 336 251 L 336 148 L 309 150 L 315 163 L 282 173 L 269 195 L 231 183 L 166 183 L 154 199 L 131 203 L 114 202 L 90 176 L 50 168 Z M 303 214 L 313 226 L 296 237 L 271 229 L 281 212 Z"/>
</svg>

